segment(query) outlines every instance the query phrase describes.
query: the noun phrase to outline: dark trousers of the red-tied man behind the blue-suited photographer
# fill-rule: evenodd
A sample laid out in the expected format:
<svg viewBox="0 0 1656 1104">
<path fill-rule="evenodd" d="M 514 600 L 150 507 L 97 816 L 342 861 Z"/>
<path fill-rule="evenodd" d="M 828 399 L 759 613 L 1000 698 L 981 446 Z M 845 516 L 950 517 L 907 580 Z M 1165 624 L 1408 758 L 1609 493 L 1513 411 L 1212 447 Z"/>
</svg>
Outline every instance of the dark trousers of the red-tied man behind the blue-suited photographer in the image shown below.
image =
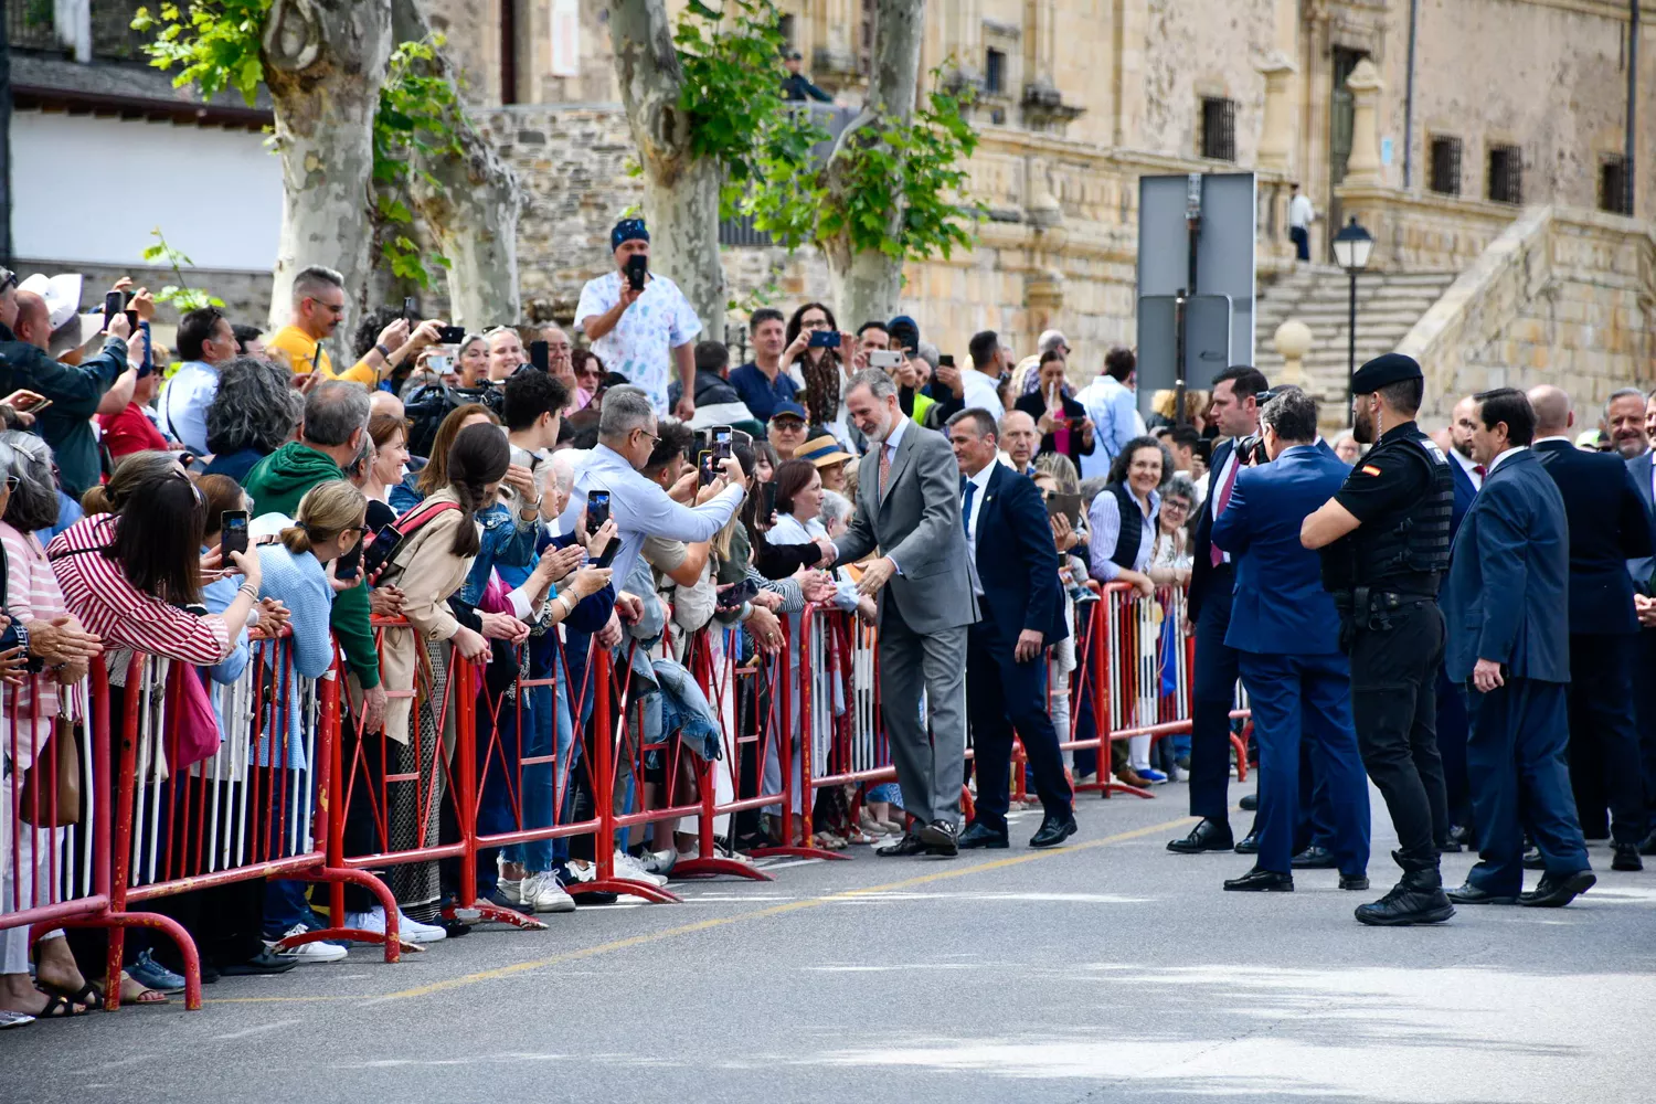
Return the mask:
<svg viewBox="0 0 1656 1104">
<path fill-rule="evenodd" d="M 1196 619 L 1196 694 L 1191 718 L 1191 816 L 1229 823 L 1230 710 L 1237 695 L 1237 652 L 1230 629 L 1230 564 L 1214 568 Z"/>
</svg>

